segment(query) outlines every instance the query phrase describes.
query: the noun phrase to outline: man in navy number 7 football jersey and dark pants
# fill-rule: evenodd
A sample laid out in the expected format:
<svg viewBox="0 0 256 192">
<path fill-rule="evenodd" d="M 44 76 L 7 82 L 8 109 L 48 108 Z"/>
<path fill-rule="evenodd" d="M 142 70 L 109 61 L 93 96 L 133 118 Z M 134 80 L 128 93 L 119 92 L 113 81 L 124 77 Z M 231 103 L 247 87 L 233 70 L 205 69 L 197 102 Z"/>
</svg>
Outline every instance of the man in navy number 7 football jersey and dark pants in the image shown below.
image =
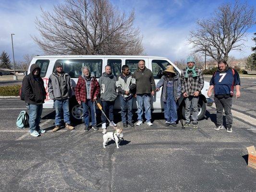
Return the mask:
<svg viewBox="0 0 256 192">
<path fill-rule="evenodd" d="M 223 129 L 223 108 L 226 115 L 227 132 L 232 132 L 232 96 L 236 89 L 236 98 L 240 97 L 240 78 L 238 72 L 229 68 L 225 60 L 218 62 L 218 71 L 215 72 L 210 81 L 207 95 L 210 97 L 214 89 L 214 102 L 217 109 L 217 126 L 215 130 Z"/>
</svg>

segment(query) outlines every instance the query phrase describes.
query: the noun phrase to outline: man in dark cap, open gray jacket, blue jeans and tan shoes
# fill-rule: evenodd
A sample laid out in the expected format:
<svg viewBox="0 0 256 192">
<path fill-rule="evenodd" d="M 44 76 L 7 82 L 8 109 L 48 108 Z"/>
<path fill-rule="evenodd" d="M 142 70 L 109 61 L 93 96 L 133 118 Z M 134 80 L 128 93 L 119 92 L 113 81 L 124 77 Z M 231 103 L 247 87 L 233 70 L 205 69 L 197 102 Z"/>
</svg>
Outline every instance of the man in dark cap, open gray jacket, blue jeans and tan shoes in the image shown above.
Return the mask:
<svg viewBox="0 0 256 192">
<path fill-rule="evenodd" d="M 63 113 L 65 127 L 73 130 L 70 124 L 69 98 L 72 96 L 72 83 L 68 73 L 62 70 L 61 63 L 55 64 L 55 71 L 49 76 L 48 84 L 49 97 L 53 99 L 56 116 L 53 132 L 61 129 L 61 115 Z"/>
</svg>

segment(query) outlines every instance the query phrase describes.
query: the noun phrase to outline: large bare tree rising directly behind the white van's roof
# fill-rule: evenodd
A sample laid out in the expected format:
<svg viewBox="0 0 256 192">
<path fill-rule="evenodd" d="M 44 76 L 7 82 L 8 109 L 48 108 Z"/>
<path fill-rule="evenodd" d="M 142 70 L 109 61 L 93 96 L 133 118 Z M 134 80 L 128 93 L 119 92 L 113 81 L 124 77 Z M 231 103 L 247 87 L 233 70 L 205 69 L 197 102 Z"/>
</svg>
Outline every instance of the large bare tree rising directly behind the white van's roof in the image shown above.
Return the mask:
<svg viewBox="0 0 256 192">
<path fill-rule="evenodd" d="M 47 54 L 139 55 L 144 48 L 134 11 L 127 17 L 109 0 L 66 0 L 53 12 L 42 8 L 36 19 L 42 38 L 33 37 Z"/>
</svg>

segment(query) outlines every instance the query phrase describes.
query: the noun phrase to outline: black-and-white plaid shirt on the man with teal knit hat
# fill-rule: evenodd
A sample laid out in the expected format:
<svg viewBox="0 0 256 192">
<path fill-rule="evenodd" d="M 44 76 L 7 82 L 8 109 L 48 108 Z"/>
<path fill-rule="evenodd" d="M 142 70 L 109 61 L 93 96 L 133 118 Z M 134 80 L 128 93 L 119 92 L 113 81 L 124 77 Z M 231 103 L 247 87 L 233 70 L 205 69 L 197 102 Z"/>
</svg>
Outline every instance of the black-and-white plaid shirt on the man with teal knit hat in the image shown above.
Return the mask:
<svg viewBox="0 0 256 192">
<path fill-rule="evenodd" d="M 195 68 L 195 72 L 197 74 L 196 77 L 193 77 L 192 73 L 188 73 L 188 78 L 185 78 L 185 69 L 181 72 L 182 93 L 186 92 L 189 96 L 192 96 L 196 91 L 201 92 L 204 87 L 202 70 Z"/>
</svg>

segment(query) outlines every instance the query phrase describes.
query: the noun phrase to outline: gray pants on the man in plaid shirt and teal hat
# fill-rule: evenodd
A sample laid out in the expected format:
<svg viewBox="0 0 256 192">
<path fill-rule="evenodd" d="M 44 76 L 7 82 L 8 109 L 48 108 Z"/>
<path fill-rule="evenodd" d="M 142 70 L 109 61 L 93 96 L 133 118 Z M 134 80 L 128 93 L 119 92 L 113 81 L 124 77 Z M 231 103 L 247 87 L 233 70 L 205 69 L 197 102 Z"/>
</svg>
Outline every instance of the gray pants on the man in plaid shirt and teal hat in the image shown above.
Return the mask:
<svg viewBox="0 0 256 192">
<path fill-rule="evenodd" d="M 185 118 L 186 118 L 186 122 L 190 122 L 190 110 L 191 110 L 191 104 L 192 104 L 192 119 L 193 122 L 197 123 L 197 119 L 198 119 L 198 108 L 197 108 L 197 104 L 198 104 L 198 99 L 199 96 L 188 96 L 185 98 Z"/>
</svg>

